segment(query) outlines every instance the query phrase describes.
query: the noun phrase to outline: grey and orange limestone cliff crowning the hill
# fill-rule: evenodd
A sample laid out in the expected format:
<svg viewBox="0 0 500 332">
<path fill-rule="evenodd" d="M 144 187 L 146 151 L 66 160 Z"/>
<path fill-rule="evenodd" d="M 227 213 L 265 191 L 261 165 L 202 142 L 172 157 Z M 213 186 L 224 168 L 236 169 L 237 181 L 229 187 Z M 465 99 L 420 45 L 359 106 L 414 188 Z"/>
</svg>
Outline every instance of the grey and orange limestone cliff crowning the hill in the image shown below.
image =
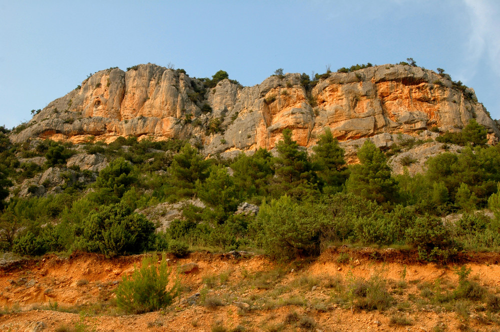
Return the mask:
<svg viewBox="0 0 500 332">
<path fill-rule="evenodd" d="M 48 104 L 11 139 L 181 138 L 196 140 L 205 154 L 232 156 L 272 149 L 285 128 L 311 147 L 330 127 L 349 155 L 366 138 L 390 146 L 398 134 L 425 135 L 433 126 L 456 131 L 472 117 L 491 140 L 500 137 L 473 89 L 460 89 L 431 70 L 381 65 L 324 76 L 309 90 L 299 74 L 271 76 L 251 87 L 224 79 L 204 88 L 200 80 L 154 64 L 101 70 Z"/>
</svg>

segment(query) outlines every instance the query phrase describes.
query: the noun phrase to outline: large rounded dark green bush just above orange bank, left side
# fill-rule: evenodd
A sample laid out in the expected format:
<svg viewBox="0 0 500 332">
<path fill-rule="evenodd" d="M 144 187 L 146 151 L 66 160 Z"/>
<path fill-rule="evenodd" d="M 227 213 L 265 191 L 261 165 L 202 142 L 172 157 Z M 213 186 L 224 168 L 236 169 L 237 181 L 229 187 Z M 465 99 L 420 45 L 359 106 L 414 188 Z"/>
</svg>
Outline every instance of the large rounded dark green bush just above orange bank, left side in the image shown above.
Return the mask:
<svg viewBox="0 0 500 332">
<path fill-rule="evenodd" d="M 106 256 L 141 253 L 154 241 L 154 225 L 123 203 L 90 213 L 82 229 L 76 248 Z"/>
</svg>

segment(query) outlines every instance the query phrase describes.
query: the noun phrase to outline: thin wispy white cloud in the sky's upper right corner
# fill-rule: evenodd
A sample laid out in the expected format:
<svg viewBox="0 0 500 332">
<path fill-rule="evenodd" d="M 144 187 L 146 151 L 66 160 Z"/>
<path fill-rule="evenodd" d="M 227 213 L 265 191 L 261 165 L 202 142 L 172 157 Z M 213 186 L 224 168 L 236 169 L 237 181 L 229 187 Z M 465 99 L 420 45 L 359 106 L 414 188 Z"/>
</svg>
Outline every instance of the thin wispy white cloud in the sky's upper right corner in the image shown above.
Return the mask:
<svg viewBox="0 0 500 332">
<path fill-rule="evenodd" d="M 500 76 L 500 3 L 496 0 L 463 0 L 469 9 L 470 35 L 467 44 L 467 57 L 470 72 L 480 61 Z"/>
</svg>

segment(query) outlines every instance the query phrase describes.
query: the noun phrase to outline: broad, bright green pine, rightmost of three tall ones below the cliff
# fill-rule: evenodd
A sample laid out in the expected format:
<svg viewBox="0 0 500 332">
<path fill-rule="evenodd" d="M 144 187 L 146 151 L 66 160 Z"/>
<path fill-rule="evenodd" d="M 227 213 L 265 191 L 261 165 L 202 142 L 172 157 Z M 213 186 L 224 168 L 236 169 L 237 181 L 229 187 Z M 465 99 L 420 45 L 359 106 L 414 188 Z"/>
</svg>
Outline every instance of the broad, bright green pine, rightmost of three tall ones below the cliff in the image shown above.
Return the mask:
<svg viewBox="0 0 500 332">
<path fill-rule="evenodd" d="M 370 140 L 357 150 L 359 164 L 353 165 L 347 191 L 377 203 L 397 198 L 397 183 L 390 175 L 387 158 Z"/>
</svg>

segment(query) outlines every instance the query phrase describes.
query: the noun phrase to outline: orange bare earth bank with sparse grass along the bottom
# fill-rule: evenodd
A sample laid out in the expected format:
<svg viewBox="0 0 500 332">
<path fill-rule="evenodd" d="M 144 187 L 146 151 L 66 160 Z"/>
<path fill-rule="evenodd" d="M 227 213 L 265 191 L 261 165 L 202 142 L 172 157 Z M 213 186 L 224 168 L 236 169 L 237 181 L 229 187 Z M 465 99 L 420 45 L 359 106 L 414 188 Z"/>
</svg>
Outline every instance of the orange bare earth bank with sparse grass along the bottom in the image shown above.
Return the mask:
<svg viewBox="0 0 500 332">
<path fill-rule="evenodd" d="M 0 331 L 496 331 L 500 322 L 496 253 L 462 254 L 446 266 L 397 250 L 344 247 L 288 263 L 249 253 L 169 256 L 172 282 L 181 285 L 174 304 L 124 315 L 113 291 L 141 258 L 4 257 Z M 446 298 L 460 289 L 462 266 L 480 299 Z M 366 309 L 359 285 L 386 290 L 385 308 Z"/>
</svg>

